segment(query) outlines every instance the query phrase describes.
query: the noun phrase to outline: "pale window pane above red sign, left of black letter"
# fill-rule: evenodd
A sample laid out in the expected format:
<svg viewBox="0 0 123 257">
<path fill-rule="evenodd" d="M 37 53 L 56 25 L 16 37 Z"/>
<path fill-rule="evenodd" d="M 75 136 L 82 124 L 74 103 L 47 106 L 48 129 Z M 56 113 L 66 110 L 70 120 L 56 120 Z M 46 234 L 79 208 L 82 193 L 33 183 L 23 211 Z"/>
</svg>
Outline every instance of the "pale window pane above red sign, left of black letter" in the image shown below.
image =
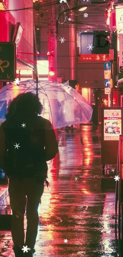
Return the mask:
<svg viewBox="0 0 123 257">
<path fill-rule="evenodd" d="M 93 32 L 81 33 L 81 54 L 92 54 L 93 51 L 88 48 L 91 44 L 93 46 Z"/>
</svg>

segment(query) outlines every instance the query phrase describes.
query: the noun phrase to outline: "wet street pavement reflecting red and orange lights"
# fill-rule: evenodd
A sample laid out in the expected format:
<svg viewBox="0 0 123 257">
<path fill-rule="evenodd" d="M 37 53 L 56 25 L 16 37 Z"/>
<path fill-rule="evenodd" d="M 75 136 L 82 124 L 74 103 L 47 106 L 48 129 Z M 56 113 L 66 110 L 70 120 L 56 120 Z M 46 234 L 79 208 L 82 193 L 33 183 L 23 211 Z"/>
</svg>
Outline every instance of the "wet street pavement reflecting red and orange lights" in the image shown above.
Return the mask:
<svg viewBox="0 0 123 257">
<path fill-rule="evenodd" d="M 59 132 L 59 153 L 48 166 L 52 189 L 45 186 L 38 208 L 34 256 L 122 257 L 115 224 L 116 182 L 112 174 L 102 176 L 100 127 Z M 26 216 L 24 223 L 26 231 Z M 0 234 L 0 256 L 13 257 L 11 232 Z"/>
</svg>

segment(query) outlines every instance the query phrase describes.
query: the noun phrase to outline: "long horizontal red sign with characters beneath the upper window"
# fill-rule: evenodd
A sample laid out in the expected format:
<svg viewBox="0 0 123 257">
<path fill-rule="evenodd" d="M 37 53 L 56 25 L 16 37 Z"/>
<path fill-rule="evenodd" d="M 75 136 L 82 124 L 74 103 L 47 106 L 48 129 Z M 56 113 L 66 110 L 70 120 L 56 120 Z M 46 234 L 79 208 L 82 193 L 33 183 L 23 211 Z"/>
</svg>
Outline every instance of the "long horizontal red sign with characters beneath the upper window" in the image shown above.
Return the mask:
<svg viewBox="0 0 123 257">
<path fill-rule="evenodd" d="M 79 62 L 109 62 L 110 56 L 107 54 L 82 54 L 78 57 Z"/>
</svg>

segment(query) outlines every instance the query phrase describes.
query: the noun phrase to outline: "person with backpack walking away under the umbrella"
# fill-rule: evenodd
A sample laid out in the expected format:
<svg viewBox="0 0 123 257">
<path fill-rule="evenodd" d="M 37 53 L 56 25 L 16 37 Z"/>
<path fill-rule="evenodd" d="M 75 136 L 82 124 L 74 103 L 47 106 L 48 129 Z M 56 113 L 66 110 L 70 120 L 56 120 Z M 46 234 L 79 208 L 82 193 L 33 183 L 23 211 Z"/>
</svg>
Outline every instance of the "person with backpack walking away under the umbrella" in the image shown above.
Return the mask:
<svg viewBox="0 0 123 257">
<path fill-rule="evenodd" d="M 0 167 L 9 177 L 12 209 L 11 232 L 16 257 L 33 256 L 38 232 L 38 205 L 47 183 L 48 166 L 58 152 L 55 132 L 49 120 L 38 116 L 43 106 L 33 93 L 19 94 L 10 103 L 6 121 L 0 127 Z M 27 231 L 24 242 L 24 214 L 27 196 Z M 30 250 L 23 252 L 23 246 Z"/>
</svg>

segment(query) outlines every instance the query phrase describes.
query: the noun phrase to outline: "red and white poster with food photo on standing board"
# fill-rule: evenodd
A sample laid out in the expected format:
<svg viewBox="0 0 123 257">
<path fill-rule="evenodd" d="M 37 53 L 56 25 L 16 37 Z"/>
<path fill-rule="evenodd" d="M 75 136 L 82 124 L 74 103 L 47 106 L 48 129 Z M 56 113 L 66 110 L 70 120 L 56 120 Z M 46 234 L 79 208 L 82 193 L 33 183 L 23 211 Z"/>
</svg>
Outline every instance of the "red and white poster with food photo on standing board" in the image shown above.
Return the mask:
<svg viewBox="0 0 123 257">
<path fill-rule="evenodd" d="M 104 110 L 104 140 L 119 140 L 121 110 Z"/>
</svg>

